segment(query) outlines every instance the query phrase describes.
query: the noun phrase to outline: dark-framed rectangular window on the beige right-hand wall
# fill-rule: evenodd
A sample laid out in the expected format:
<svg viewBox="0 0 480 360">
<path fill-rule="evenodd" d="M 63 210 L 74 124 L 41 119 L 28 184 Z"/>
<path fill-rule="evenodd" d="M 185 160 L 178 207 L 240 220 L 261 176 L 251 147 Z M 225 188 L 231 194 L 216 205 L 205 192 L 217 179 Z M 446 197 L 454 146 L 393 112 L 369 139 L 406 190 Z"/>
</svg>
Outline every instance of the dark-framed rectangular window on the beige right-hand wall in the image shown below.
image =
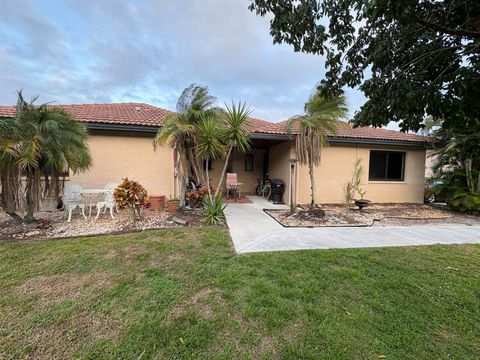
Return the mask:
<svg viewBox="0 0 480 360">
<path fill-rule="evenodd" d="M 405 152 L 370 151 L 369 180 L 403 181 L 404 176 Z"/>
</svg>

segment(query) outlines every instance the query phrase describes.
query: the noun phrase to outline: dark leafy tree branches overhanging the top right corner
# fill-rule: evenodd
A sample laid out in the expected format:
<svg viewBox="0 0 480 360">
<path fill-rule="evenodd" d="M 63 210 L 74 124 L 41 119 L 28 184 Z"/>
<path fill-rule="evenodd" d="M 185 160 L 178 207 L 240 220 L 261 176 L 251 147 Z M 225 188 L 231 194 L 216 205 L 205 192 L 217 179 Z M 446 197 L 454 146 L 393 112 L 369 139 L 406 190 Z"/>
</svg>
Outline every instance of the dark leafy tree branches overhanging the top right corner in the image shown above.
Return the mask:
<svg viewBox="0 0 480 360">
<path fill-rule="evenodd" d="M 251 0 L 273 15 L 274 43 L 326 57 L 324 95 L 357 87 L 368 101 L 356 125 L 399 122 L 417 131 L 423 119 L 447 129 L 480 119 L 478 0 Z"/>
</svg>

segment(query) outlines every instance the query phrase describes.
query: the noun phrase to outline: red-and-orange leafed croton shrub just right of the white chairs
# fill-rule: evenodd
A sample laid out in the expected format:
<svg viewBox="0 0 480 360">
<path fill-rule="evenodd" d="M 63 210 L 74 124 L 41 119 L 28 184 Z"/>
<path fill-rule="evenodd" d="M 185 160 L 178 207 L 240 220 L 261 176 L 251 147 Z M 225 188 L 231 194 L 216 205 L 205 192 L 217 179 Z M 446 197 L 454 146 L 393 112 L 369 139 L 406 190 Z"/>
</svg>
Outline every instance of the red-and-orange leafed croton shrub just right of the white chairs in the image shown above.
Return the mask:
<svg viewBox="0 0 480 360">
<path fill-rule="evenodd" d="M 122 179 L 122 183 L 115 189 L 113 196 L 117 208 L 132 210 L 134 220 L 141 217 L 142 209 L 150 207 L 147 190 L 138 182 Z"/>
</svg>

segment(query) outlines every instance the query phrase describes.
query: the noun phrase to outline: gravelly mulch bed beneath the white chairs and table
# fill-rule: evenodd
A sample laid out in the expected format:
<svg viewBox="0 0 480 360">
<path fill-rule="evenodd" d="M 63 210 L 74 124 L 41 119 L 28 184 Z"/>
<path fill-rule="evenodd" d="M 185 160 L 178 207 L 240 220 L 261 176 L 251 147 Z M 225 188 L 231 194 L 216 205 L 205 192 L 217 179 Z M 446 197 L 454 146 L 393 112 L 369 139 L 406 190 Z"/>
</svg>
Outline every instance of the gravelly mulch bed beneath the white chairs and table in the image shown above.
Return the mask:
<svg viewBox="0 0 480 360">
<path fill-rule="evenodd" d="M 69 223 L 65 219 L 60 219 L 61 215 L 62 212 L 38 212 L 35 214 L 37 222 L 19 224 L 0 211 L 0 242 L 35 241 L 205 225 L 201 210 L 179 210 L 176 214 L 146 210 L 143 212 L 143 219 L 136 222 L 133 221 L 131 212 L 126 210 L 117 213 L 115 219 L 105 214 L 98 220 L 94 220 L 95 216 L 85 220 L 75 212 Z"/>
</svg>

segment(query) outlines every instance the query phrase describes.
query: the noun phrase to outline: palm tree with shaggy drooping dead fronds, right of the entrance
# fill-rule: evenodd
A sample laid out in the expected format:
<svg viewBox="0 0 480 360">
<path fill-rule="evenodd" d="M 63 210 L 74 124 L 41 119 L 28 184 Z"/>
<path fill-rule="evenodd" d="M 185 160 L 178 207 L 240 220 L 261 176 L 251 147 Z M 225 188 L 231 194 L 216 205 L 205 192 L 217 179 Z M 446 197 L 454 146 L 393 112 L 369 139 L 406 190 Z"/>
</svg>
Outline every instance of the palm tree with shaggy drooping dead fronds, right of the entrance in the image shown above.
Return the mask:
<svg viewBox="0 0 480 360">
<path fill-rule="evenodd" d="M 323 146 L 328 144 L 327 136 L 335 135 L 339 120 L 347 116 L 345 96 L 325 98 L 316 90 L 305 104 L 305 114 L 289 119 L 286 128 L 296 132 L 295 148 L 299 164 L 308 166 L 312 191 L 311 207 L 316 202 L 315 167 L 320 165 Z"/>
</svg>

